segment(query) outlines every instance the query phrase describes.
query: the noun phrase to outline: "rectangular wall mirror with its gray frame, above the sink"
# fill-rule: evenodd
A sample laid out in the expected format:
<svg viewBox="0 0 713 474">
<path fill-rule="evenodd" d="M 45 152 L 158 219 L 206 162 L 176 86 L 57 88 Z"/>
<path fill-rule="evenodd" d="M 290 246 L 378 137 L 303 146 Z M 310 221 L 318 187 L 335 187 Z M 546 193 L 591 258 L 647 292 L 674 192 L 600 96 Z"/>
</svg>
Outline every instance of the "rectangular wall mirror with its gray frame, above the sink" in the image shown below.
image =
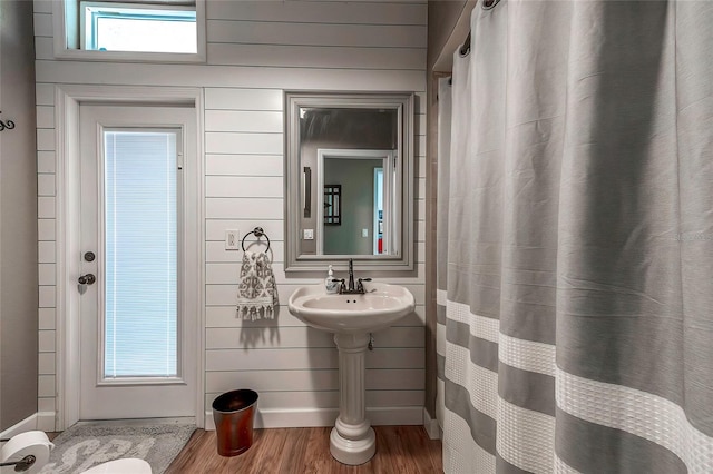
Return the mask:
<svg viewBox="0 0 713 474">
<path fill-rule="evenodd" d="M 413 269 L 408 93 L 285 92 L 285 271 Z"/>
</svg>

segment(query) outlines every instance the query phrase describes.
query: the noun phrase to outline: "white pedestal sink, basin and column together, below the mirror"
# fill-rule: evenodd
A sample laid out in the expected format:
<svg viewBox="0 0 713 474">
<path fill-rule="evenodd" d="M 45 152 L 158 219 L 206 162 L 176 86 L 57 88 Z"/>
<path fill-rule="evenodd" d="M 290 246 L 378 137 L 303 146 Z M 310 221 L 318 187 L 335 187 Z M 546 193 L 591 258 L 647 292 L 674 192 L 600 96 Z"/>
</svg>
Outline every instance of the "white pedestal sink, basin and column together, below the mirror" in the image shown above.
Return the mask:
<svg viewBox="0 0 713 474">
<path fill-rule="evenodd" d="M 339 349 L 339 417 L 330 451 L 343 464 L 358 465 L 377 452 L 377 438 L 364 411 L 364 355 L 369 333 L 391 326 L 413 312 L 413 295 L 399 285 L 364 284 L 363 295 L 326 294 L 324 285 L 297 288 L 290 313 L 316 329 L 334 333 Z"/>
</svg>

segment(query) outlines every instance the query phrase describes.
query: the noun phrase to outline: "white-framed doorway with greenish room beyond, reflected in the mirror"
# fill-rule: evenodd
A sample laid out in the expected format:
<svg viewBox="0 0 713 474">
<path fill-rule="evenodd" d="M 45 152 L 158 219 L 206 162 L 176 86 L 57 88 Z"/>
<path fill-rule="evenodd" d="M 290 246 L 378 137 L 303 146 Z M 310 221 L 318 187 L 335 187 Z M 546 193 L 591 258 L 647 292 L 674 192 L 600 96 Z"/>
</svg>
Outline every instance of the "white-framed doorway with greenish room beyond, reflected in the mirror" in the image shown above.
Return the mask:
<svg viewBox="0 0 713 474">
<path fill-rule="evenodd" d="M 318 255 L 389 254 L 393 157 L 392 150 L 318 150 L 318 189 L 324 197 L 318 206 Z"/>
</svg>

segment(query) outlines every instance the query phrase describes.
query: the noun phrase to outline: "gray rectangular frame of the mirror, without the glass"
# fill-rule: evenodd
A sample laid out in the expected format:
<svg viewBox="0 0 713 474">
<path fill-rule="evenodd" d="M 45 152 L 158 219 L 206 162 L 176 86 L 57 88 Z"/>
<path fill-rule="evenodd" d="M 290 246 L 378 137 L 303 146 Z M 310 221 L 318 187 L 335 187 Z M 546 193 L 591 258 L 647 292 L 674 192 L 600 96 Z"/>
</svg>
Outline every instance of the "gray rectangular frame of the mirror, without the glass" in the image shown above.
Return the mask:
<svg viewBox="0 0 713 474">
<path fill-rule="evenodd" d="M 398 255 L 302 255 L 301 219 L 303 215 L 302 192 L 303 176 L 300 167 L 300 109 L 301 108 L 339 108 L 339 109 L 395 109 L 398 113 L 399 161 L 401 178 L 401 199 L 398 204 L 399 219 Z M 315 273 L 322 276 L 328 265 L 334 269 L 346 269 L 346 261 L 353 258 L 354 266 L 374 275 L 380 273 L 412 273 L 416 260 L 416 241 L 413 220 L 414 195 L 414 113 L 416 96 L 413 92 L 313 92 L 285 91 L 285 273 Z M 316 186 L 316 185 L 315 185 Z M 319 192 L 318 192 L 319 195 Z"/>
</svg>

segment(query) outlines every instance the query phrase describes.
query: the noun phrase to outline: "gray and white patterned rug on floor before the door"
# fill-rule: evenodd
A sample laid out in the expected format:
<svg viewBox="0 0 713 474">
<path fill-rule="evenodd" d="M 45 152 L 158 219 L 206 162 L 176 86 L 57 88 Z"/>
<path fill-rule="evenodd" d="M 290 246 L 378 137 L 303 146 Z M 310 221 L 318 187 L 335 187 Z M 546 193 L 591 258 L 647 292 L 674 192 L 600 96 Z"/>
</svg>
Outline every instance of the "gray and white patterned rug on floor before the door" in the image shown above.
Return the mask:
<svg viewBox="0 0 713 474">
<path fill-rule="evenodd" d="M 39 474 L 82 473 L 108 461 L 138 457 L 162 474 L 196 429 L 194 425 L 75 425 L 52 440 Z"/>
</svg>

